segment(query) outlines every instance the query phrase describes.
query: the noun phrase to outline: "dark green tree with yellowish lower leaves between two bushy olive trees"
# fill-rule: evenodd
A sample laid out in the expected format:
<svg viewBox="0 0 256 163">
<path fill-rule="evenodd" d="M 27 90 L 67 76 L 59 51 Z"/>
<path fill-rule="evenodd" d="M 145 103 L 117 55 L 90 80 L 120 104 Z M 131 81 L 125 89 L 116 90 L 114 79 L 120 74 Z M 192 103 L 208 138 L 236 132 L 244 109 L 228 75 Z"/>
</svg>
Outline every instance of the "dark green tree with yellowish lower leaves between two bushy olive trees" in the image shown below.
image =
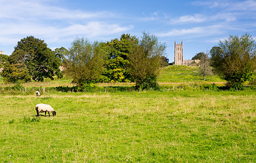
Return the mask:
<svg viewBox="0 0 256 163">
<path fill-rule="evenodd" d="M 106 69 L 103 73 L 104 82 L 131 82 L 131 74 L 127 71 L 129 65 L 128 55 L 131 44 L 138 39 L 129 34 L 121 35 L 120 39 L 112 39 L 107 43 L 102 43 L 108 53 L 106 57 Z"/>
</svg>

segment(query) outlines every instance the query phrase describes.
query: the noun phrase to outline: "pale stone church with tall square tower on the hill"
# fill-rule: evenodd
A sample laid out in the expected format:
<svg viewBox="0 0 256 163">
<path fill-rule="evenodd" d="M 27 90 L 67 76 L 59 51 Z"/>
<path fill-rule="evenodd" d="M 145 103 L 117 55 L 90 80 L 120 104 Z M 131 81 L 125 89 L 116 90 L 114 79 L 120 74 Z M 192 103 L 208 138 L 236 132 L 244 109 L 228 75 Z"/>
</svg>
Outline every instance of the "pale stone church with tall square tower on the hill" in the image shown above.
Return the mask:
<svg viewBox="0 0 256 163">
<path fill-rule="evenodd" d="M 198 65 L 200 60 L 184 60 L 183 59 L 183 42 L 174 42 L 174 65 Z"/>
</svg>

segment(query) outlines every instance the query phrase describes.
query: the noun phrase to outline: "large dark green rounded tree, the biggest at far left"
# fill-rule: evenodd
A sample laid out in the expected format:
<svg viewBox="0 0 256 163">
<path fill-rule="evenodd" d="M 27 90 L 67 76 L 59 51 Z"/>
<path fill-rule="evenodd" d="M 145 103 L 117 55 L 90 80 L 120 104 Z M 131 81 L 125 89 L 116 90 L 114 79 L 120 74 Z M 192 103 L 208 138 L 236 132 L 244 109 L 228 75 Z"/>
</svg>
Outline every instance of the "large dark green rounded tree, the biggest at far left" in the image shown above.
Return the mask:
<svg viewBox="0 0 256 163">
<path fill-rule="evenodd" d="M 44 77 L 54 79 L 53 76 L 59 74 L 61 65 L 61 59 L 54 55 L 47 44 L 33 36 L 18 41 L 9 62 L 11 65 L 27 67 L 28 75 L 37 82 L 44 81 Z"/>
</svg>

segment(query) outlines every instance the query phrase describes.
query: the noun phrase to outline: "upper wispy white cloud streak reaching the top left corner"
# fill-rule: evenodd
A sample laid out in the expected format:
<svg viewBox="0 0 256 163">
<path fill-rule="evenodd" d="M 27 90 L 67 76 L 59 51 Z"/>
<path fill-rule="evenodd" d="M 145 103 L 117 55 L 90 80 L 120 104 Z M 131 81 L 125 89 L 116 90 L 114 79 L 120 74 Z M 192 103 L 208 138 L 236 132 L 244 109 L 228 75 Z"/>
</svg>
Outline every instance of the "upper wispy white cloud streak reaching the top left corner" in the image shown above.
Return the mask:
<svg viewBox="0 0 256 163">
<path fill-rule="evenodd" d="M 26 19 L 85 19 L 106 18 L 114 16 L 110 12 L 82 12 L 80 10 L 68 10 L 63 7 L 48 5 L 49 1 L 25 1 L 25 0 L 1 0 L 0 18 L 11 18 L 18 20 Z"/>
</svg>

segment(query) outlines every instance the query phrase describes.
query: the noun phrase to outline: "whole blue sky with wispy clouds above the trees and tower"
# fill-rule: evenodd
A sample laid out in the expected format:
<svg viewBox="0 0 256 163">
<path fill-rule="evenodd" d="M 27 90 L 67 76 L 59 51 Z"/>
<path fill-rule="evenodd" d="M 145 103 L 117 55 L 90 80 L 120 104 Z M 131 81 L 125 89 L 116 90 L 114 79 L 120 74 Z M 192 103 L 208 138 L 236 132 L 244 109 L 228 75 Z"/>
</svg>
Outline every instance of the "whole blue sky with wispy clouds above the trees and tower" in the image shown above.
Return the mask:
<svg viewBox="0 0 256 163">
<path fill-rule="evenodd" d="M 184 58 L 191 59 L 229 35 L 256 38 L 256 0 L 0 0 L 0 6 L 0 50 L 7 55 L 29 35 L 54 50 L 77 37 L 110 41 L 146 32 L 166 43 L 170 62 L 174 41 L 183 41 Z"/>
</svg>

